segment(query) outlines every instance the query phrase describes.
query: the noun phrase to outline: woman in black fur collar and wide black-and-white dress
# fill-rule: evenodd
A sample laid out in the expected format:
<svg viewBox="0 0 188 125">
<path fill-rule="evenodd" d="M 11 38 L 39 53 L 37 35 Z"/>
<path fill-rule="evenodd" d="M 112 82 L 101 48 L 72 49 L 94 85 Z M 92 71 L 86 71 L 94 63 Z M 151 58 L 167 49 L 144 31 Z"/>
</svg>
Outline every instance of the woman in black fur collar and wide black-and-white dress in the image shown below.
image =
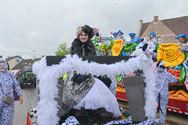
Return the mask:
<svg viewBox="0 0 188 125">
<path fill-rule="evenodd" d="M 90 26 L 78 27 L 77 38 L 72 43 L 70 53 L 78 56 L 95 56 L 95 47 L 90 41 L 93 35 L 93 29 Z M 113 117 L 121 116 L 116 97 L 99 78 L 72 72 L 69 73 L 65 84 L 62 97 L 62 102 L 65 104 L 62 106 L 63 111 L 68 112 L 68 109 L 73 109 L 77 112 L 73 111 L 73 114 L 68 113 L 68 115 L 77 115 L 83 110 L 93 113 L 94 110 L 104 109 Z"/>
</svg>

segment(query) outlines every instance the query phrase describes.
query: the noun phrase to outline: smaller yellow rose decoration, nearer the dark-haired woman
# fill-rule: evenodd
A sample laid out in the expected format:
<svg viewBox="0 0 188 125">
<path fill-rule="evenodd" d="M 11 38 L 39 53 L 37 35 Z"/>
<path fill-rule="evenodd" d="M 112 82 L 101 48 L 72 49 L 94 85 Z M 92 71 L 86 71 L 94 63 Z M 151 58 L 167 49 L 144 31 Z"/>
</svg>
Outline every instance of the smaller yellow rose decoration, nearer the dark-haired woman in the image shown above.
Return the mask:
<svg viewBox="0 0 188 125">
<path fill-rule="evenodd" d="M 122 39 L 114 40 L 114 44 L 112 46 L 112 56 L 119 56 L 122 49 L 123 49 L 123 40 Z"/>
</svg>

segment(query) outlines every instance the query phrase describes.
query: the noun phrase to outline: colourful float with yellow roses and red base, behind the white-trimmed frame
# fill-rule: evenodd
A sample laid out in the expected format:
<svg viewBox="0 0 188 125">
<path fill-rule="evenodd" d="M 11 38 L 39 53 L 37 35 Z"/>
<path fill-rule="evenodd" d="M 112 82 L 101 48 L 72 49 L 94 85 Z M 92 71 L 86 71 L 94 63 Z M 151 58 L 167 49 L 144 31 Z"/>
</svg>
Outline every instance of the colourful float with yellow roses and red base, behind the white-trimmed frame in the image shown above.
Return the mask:
<svg viewBox="0 0 188 125">
<path fill-rule="evenodd" d="M 108 52 L 108 55 L 128 56 L 138 46 L 137 42 L 126 42 L 125 39 L 122 38 L 123 33 L 121 31 L 114 32 L 113 34 L 114 37 L 108 40 L 101 39 L 100 41 L 97 41 L 99 40 L 97 38 L 94 40 L 95 43 L 101 43 L 101 45 L 110 43 L 107 44 L 108 46 L 106 45 L 106 48 L 104 49 L 105 52 Z M 98 48 L 101 49 L 102 47 L 98 46 Z M 184 115 L 188 115 L 188 87 L 184 84 L 188 82 L 188 79 L 186 80 L 188 76 L 188 61 L 186 60 L 187 53 L 188 52 L 182 52 L 181 47 L 178 44 L 163 43 L 158 45 L 157 59 L 165 61 L 165 66 L 169 67 L 168 72 L 174 75 L 178 80 L 177 83 L 169 84 L 169 102 L 167 110 Z M 117 99 L 128 102 L 126 89 L 122 84 L 123 77 L 117 75 L 116 81 L 118 84 L 116 89 Z"/>
</svg>

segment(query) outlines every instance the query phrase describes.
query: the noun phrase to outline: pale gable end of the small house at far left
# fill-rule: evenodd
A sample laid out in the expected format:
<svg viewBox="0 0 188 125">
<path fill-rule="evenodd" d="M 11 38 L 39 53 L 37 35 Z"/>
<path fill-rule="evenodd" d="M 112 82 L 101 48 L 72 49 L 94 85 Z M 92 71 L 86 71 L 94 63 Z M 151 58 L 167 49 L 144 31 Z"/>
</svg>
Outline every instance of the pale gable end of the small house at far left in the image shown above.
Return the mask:
<svg viewBox="0 0 188 125">
<path fill-rule="evenodd" d="M 6 58 L 7 63 L 9 64 L 10 70 L 12 70 L 16 65 L 18 65 L 23 60 L 20 56 L 12 56 Z"/>
</svg>

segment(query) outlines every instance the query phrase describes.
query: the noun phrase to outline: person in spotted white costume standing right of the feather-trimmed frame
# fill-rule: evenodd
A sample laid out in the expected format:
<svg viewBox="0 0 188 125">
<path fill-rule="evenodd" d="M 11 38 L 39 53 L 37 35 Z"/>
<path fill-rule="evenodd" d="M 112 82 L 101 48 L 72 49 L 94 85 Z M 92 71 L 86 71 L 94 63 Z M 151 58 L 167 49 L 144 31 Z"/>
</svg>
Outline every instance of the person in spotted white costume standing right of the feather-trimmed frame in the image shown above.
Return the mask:
<svg viewBox="0 0 188 125">
<path fill-rule="evenodd" d="M 157 96 L 159 99 L 159 112 L 160 112 L 160 124 L 165 124 L 166 120 L 166 106 L 168 103 L 168 84 L 172 82 L 177 82 L 176 78 L 167 72 L 164 63 L 157 63 L 156 71 L 156 88 Z"/>
</svg>

